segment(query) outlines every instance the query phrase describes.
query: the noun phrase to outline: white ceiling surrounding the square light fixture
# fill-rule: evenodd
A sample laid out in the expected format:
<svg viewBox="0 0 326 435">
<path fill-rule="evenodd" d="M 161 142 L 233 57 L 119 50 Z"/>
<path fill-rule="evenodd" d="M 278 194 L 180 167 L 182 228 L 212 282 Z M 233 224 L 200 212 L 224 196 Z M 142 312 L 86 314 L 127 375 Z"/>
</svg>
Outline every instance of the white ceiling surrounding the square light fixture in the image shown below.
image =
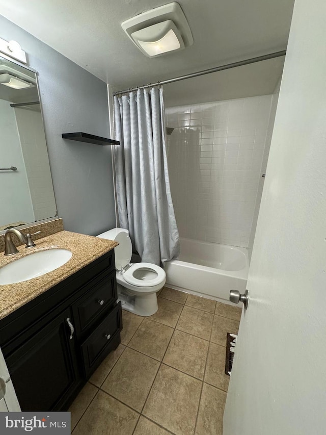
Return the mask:
<svg viewBox="0 0 326 435">
<path fill-rule="evenodd" d="M 0 0 L 0 11 L 116 90 L 286 48 L 294 0 L 179 0 L 194 45 L 156 59 L 147 58 L 123 32 L 121 22 L 164 3 L 162 0 Z M 271 61 L 271 64 L 280 62 Z M 255 69 L 259 71 L 261 67 L 258 64 L 251 67 L 251 71 Z M 282 68 L 274 69 L 278 73 L 275 85 Z M 210 86 L 214 75 L 210 79 L 204 76 L 202 83 L 209 82 Z"/>
</svg>

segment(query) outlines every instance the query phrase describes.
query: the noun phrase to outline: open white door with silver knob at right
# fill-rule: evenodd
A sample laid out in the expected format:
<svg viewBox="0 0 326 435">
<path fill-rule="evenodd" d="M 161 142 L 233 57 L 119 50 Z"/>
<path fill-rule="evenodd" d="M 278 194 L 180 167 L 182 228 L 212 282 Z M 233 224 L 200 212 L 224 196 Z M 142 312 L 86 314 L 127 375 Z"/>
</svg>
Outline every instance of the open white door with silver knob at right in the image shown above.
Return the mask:
<svg viewBox="0 0 326 435">
<path fill-rule="evenodd" d="M 224 435 L 326 433 L 326 2 L 296 0 Z"/>
</svg>

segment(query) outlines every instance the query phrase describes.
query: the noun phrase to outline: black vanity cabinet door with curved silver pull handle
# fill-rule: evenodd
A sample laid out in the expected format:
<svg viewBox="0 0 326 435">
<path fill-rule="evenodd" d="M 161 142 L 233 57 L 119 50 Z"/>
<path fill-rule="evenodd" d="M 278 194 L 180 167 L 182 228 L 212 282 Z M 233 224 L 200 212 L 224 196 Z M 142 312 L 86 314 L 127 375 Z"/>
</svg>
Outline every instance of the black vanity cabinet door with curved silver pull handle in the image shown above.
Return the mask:
<svg viewBox="0 0 326 435">
<path fill-rule="evenodd" d="M 6 362 L 22 411 L 65 408 L 80 382 L 70 309 L 26 339 Z M 28 332 L 26 332 L 26 335 Z"/>
</svg>

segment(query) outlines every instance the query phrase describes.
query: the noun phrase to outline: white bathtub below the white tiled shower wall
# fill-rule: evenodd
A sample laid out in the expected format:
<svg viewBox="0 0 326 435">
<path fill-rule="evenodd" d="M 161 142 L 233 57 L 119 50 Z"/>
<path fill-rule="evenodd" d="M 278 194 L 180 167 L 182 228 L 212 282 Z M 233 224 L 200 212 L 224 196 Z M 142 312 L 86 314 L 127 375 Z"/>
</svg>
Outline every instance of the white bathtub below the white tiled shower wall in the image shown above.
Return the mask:
<svg viewBox="0 0 326 435">
<path fill-rule="evenodd" d="M 178 260 L 166 263 L 166 286 L 223 302 L 230 290 L 246 290 L 249 260 L 245 248 L 180 239 Z"/>
</svg>

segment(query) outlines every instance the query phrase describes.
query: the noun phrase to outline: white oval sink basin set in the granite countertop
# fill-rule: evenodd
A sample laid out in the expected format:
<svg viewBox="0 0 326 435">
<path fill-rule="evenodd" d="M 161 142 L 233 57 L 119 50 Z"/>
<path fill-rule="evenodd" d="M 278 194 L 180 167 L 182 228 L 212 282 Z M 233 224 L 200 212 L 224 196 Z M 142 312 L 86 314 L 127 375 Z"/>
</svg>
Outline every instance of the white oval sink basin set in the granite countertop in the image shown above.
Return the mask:
<svg viewBox="0 0 326 435">
<path fill-rule="evenodd" d="M 72 257 L 68 249 L 33 252 L 0 268 L 0 286 L 21 283 L 58 269 Z"/>
</svg>

